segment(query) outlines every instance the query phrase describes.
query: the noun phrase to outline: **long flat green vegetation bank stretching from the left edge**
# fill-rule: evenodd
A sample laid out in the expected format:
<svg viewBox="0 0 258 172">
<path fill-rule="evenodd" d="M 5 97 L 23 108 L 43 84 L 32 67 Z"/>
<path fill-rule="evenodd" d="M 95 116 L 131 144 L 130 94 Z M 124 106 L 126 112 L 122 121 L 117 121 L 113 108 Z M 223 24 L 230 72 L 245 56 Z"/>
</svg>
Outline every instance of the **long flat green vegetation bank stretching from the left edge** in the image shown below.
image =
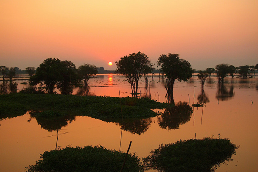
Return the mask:
<svg viewBox="0 0 258 172">
<path fill-rule="evenodd" d="M 0 119 L 21 116 L 28 111 L 35 117 L 149 118 L 159 115 L 152 109 L 169 106 L 148 98 L 12 93 L 0 95 Z"/>
</svg>

